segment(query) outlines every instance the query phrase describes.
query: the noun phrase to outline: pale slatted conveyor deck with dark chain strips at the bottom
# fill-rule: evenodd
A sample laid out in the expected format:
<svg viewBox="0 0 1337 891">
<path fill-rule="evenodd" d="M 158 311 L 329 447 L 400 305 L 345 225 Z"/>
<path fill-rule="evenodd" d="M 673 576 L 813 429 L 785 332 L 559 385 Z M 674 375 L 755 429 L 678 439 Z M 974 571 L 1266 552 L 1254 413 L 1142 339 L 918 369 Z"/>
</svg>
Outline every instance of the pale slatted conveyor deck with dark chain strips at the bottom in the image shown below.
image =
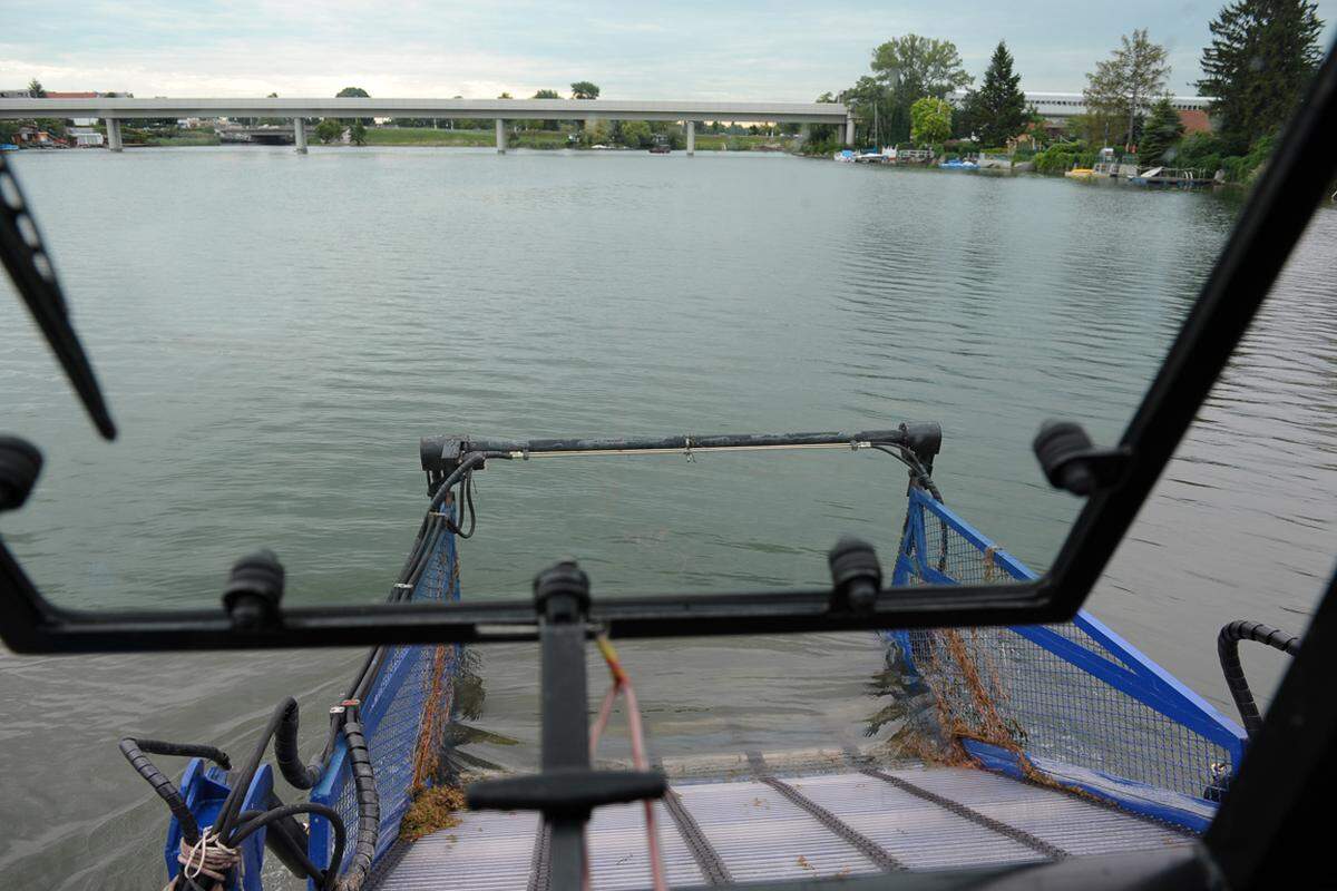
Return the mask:
<svg viewBox="0 0 1337 891">
<path fill-rule="evenodd" d="M 754 769 L 671 781 L 670 789 L 655 807 L 674 887 L 1023 864 L 1193 842 L 1181 830 L 1078 795 L 972 768 Z M 650 887 L 642 815 L 639 804 L 595 812 L 588 836 L 595 888 Z M 461 818 L 392 858 L 374 887 L 548 888 L 535 814 Z"/>
</svg>

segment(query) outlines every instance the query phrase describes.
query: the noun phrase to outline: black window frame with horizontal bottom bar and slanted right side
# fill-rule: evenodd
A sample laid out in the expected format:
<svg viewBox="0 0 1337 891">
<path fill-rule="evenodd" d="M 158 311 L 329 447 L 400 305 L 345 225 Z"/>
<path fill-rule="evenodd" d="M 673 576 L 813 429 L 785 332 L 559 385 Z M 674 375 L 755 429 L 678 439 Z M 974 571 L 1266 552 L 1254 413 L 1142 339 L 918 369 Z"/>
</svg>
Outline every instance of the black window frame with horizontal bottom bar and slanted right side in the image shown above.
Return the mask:
<svg viewBox="0 0 1337 891">
<path fill-rule="evenodd" d="M 1253 190 L 1197 303 L 1118 443 L 1122 477 L 1083 506 L 1054 565 L 1029 584 L 885 589 L 873 609 L 841 608 L 829 589 L 598 597 L 591 620 L 614 637 L 749 635 L 1042 624 L 1084 602 L 1213 383 L 1266 299 L 1337 172 L 1337 60 L 1329 49 Z M 558 554 L 554 554 L 556 557 Z M 535 566 L 537 570 L 539 566 Z M 197 610 L 88 610 L 37 590 L 0 541 L 0 637 L 16 652 L 151 652 L 535 640 L 527 592 L 485 604 L 368 604 L 283 609 L 234 627 L 218 600 Z"/>
</svg>

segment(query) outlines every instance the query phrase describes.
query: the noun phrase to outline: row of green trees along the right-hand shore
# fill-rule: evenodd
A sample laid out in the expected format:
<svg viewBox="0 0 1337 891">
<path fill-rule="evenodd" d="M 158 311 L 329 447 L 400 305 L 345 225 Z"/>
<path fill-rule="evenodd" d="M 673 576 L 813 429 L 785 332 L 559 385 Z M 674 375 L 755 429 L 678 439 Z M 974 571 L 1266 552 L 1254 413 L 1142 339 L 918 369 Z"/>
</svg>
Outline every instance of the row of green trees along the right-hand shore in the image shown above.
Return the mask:
<svg viewBox="0 0 1337 891">
<path fill-rule="evenodd" d="M 818 102 L 844 102 L 856 124 L 856 144 L 943 146 L 988 150 L 1029 139 L 1056 147 L 1056 156 L 1083 160 L 1099 147 L 1136 154 L 1143 166 L 1225 168 L 1243 178 L 1266 156 L 1322 59 L 1324 23 L 1309 0 L 1237 0 L 1210 23 L 1203 77 L 1195 87 L 1210 99 L 1213 132 L 1185 138 L 1166 83 L 1169 53 L 1146 28 L 1123 35 L 1108 57 L 1086 75 L 1087 114 L 1052 132 L 1027 104 L 1021 76 L 1004 40 L 984 76 L 975 77 L 951 40 L 904 35 L 872 51 L 870 73 Z M 957 96 L 953 92 L 964 91 Z M 955 102 L 953 102 L 955 99 Z M 840 143 L 832 127 L 814 128 L 812 151 Z"/>
</svg>

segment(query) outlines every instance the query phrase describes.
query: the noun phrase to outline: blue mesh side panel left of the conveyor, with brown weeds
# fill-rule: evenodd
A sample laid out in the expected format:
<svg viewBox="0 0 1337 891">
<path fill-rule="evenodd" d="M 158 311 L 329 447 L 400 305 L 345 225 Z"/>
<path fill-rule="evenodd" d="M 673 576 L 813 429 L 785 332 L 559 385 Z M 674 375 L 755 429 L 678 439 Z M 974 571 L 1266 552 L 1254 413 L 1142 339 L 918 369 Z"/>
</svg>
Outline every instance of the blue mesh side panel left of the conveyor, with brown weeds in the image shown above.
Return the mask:
<svg viewBox="0 0 1337 891">
<path fill-rule="evenodd" d="M 428 556 L 422 574 L 408 600 L 447 601 L 460 598 L 460 565 L 455 536 L 441 534 Z M 389 848 L 413 791 L 431 783 L 445 725 L 451 717 L 456 668 L 463 657 L 460 645 L 386 647 L 374 679 L 361 703 L 361 719 L 376 776 L 381 807 L 377 856 Z M 342 747 L 332 759 L 333 781 L 313 800 L 338 811 L 350 834 L 358 824 L 357 788 Z M 313 844 L 317 843 L 313 835 Z M 330 840 L 318 863 L 329 858 Z M 344 864 L 353 856 L 352 835 Z"/>
</svg>

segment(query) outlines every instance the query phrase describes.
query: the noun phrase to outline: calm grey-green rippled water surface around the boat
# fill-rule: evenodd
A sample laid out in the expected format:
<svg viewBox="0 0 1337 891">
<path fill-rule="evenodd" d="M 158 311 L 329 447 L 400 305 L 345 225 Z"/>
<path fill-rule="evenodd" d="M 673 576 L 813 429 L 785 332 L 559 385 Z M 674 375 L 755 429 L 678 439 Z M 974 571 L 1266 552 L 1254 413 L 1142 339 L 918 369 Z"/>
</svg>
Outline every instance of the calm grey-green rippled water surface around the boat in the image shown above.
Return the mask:
<svg viewBox="0 0 1337 891">
<path fill-rule="evenodd" d="M 123 430 L 94 438 L 4 295 L 0 426 L 48 458 L 4 534 L 79 606 L 211 605 L 258 545 L 283 558 L 293 602 L 378 600 L 424 505 L 417 438 L 441 431 L 936 419 L 947 501 L 1044 568 L 1078 502 L 1042 484 L 1031 437 L 1047 417 L 1118 435 L 1238 212 L 1211 195 L 755 155 L 221 148 L 16 164 Z M 1091 601 L 1222 705 L 1217 628 L 1301 631 L 1332 569 L 1334 256 L 1337 214 L 1321 212 Z M 465 597 L 523 596 L 567 554 L 606 596 L 822 584 L 841 533 L 893 550 L 897 466 L 493 466 L 463 545 Z M 481 751 L 532 764 L 533 653 L 480 656 L 480 724 L 519 743 Z M 0 875 L 160 882 L 164 812 L 115 740 L 241 749 L 283 695 L 322 711 L 357 657 L 0 656 Z M 1249 657 L 1266 689 L 1281 663 Z M 858 741 L 877 708 L 865 684 L 881 657 L 862 635 L 635 644 L 624 659 L 666 756 Z"/>
</svg>

